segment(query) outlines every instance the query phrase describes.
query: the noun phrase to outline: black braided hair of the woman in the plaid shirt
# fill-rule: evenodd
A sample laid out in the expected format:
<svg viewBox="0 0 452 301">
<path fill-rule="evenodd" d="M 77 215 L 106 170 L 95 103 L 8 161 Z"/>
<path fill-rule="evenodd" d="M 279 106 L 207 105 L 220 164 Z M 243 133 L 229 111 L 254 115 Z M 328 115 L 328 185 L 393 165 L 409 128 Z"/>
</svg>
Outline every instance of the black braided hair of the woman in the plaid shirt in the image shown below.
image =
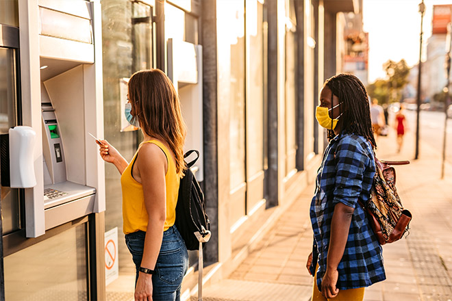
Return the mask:
<svg viewBox="0 0 452 301">
<path fill-rule="evenodd" d="M 355 75 L 341 73 L 325 81 L 323 87 L 331 90 L 331 107 L 333 105 L 332 96 L 339 99 L 340 116 L 338 125 L 342 133 L 354 133 L 361 135 L 373 148 L 377 148 L 373 135 L 371 122 L 371 108 L 369 106 L 366 87 Z M 334 138 L 334 131 L 328 130 L 328 139 Z"/>
</svg>

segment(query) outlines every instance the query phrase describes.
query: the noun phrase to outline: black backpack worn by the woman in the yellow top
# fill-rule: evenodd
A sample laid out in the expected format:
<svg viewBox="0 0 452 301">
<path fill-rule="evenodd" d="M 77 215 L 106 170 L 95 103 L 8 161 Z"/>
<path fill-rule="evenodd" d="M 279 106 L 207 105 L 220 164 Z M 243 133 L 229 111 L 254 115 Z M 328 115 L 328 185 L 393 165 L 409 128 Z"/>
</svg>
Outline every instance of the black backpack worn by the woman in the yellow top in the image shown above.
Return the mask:
<svg viewBox="0 0 452 301">
<path fill-rule="evenodd" d="M 190 167 L 199 158 L 198 150 L 188 150 L 184 158 L 192 153 L 197 157 L 186 163 L 184 177 L 179 185 L 175 225 L 184 239 L 187 250 L 202 250 L 202 243 L 210 239 L 210 221 L 205 213 L 204 194 Z"/>
</svg>

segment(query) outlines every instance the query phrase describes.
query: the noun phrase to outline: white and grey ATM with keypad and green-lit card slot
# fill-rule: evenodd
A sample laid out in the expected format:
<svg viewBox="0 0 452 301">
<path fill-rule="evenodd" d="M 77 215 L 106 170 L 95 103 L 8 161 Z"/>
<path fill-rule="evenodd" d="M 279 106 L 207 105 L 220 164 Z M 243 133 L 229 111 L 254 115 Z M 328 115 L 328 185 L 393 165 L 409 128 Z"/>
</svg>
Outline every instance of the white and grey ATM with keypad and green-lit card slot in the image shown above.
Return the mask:
<svg viewBox="0 0 452 301">
<path fill-rule="evenodd" d="M 31 238 L 105 211 L 104 162 L 88 134 L 103 136 L 101 3 L 20 4 L 23 124 L 36 133 L 36 185 L 25 189 Z"/>
</svg>

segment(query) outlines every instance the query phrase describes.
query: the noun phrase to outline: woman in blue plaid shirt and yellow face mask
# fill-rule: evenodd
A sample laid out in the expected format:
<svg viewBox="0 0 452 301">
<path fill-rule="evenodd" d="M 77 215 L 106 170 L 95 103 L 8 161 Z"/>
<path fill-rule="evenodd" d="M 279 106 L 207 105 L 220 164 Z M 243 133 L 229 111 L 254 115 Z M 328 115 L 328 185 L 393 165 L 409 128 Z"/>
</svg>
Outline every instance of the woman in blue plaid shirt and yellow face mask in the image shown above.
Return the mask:
<svg viewBox="0 0 452 301">
<path fill-rule="evenodd" d="M 386 275 L 381 246 L 357 203 L 368 200 L 375 174 L 376 144 L 362 82 L 349 74 L 325 81 L 316 118 L 328 129 L 329 144 L 310 207 L 312 301 L 363 300 L 364 287 Z"/>
</svg>

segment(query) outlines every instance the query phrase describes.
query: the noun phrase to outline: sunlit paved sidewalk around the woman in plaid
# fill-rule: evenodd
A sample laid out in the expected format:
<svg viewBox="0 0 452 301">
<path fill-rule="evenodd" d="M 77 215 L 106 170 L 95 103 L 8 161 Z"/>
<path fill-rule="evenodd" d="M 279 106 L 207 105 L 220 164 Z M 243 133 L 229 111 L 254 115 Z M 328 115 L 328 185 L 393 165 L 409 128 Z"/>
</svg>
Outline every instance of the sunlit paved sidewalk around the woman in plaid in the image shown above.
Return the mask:
<svg viewBox="0 0 452 301">
<path fill-rule="evenodd" d="M 410 133 L 411 134 L 411 133 Z M 406 135 L 397 154 L 394 133 L 377 140 L 379 159 L 410 159 L 397 167 L 397 189 L 413 220 L 406 239 L 384 246 L 387 280 L 366 289 L 366 301 L 452 300 L 452 166 L 440 180 L 440 145 L 420 143 L 414 161 L 414 137 Z M 205 287 L 205 301 L 310 300 L 312 277 L 305 262 L 312 246 L 307 187 L 266 238 L 229 278 Z"/>
</svg>

